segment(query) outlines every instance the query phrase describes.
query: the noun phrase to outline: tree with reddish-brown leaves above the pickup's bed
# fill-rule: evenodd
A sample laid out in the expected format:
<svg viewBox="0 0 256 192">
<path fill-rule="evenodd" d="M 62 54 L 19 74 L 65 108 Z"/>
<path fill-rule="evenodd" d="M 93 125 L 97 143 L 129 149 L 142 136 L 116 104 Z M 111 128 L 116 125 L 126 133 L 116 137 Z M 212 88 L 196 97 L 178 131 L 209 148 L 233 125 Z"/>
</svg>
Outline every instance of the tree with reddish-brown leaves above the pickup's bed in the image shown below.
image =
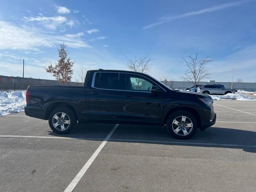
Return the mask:
<svg viewBox="0 0 256 192">
<path fill-rule="evenodd" d="M 52 76 L 56 77 L 56 80 L 62 82 L 64 85 L 65 82 L 70 81 L 73 74 L 73 64 L 70 57 L 68 56 L 68 51 L 66 50 L 66 45 L 64 43 L 60 44 L 60 48 L 58 49 L 59 59 L 58 62 L 55 63 L 55 66 L 50 64 L 48 68 L 46 68 L 46 72 L 52 74 Z"/>
</svg>

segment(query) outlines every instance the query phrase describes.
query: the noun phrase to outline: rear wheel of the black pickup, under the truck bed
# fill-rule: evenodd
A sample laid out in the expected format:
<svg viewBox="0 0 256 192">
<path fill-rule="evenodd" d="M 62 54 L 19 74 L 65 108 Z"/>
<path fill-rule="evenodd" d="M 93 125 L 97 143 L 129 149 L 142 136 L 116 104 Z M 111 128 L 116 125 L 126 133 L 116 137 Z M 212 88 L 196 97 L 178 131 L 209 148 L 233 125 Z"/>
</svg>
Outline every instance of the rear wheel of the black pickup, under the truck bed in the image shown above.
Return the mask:
<svg viewBox="0 0 256 192">
<path fill-rule="evenodd" d="M 55 133 L 66 134 L 76 126 L 77 118 L 69 108 L 60 107 L 50 113 L 48 122 Z"/>
</svg>

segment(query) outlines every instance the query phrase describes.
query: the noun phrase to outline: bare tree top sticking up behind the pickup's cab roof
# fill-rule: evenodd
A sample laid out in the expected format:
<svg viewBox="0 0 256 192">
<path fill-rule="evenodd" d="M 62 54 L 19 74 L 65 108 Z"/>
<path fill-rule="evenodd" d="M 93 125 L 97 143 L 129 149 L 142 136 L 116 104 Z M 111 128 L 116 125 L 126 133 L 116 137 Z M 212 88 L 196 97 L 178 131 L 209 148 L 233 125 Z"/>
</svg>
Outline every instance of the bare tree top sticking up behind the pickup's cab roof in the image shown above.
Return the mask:
<svg viewBox="0 0 256 192">
<path fill-rule="evenodd" d="M 146 56 L 146 57 L 140 57 L 138 59 L 136 57 L 134 59 L 130 59 L 126 57 L 126 59 L 127 59 L 126 67 L 128 69 L 135 72 L 141 72 L 141 73 L 150 72 L 150 65 L 148 63 L 153 60 L 152 58 Z"/>
</svg>

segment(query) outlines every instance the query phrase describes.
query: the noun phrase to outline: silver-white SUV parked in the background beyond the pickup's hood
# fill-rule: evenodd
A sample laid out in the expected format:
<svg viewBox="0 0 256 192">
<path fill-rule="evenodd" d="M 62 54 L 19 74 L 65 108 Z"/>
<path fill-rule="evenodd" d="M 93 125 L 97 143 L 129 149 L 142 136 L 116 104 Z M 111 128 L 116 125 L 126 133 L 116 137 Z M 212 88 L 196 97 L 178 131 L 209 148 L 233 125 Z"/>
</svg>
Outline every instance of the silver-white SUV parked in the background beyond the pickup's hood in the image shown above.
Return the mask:
<svg viewBox="0 0 256 192">
<path fill-rule="evenodd" d="M 234 89 L 226 89 L 224 85 L 221 84 L 204 84 L 197 89 L 198 93 L 203 94 L 217 94 L 225 95 L 228 93 L 235 93 Z"/>
</svg>

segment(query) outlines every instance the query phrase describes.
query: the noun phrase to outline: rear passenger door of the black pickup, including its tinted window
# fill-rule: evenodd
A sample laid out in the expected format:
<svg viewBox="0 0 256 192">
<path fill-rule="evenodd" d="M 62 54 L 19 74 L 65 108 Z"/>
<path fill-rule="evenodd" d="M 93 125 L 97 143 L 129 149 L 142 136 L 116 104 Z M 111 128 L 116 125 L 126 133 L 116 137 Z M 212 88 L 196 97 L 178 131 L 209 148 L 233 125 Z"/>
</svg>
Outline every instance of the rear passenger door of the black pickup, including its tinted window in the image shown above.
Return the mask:
<svg viewBox="0 0 256 192">
<path fill-rule="evenodd" d="M 122 121 L 120 73 L 95 72 L 89 98 L 89 114 L 94 122 Z"/>
</svg>

